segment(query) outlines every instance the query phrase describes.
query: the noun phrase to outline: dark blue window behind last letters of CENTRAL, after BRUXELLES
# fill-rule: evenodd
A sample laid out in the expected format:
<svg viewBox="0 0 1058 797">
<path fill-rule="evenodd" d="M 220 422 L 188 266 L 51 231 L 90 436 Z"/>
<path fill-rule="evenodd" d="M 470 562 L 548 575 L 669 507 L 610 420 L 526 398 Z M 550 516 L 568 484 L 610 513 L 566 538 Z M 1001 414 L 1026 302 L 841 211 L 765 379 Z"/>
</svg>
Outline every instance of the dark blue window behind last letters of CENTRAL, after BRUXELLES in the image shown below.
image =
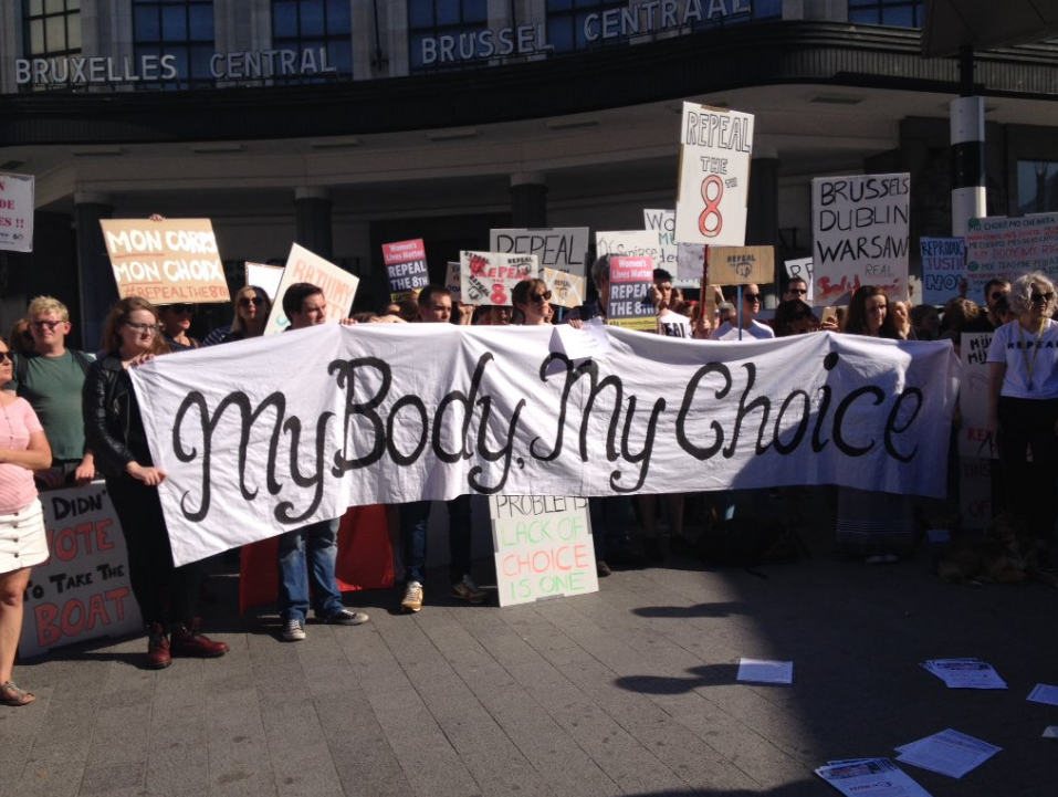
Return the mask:
<svg viewBox="0 0 1058 797">
<path fill-rule="evenodd" d="M 272 46 L 297 54 L 295 67 L 274 62 L 274 80 L 320 83 L 353 77 L 352 0 L 272 0 Z M 302 73 L 302 64 L 314 64 Z M 323 69 L 333 70 L 323 72 Z M 289 74 L 283 74 L 284 69 Z"/>
</svg>

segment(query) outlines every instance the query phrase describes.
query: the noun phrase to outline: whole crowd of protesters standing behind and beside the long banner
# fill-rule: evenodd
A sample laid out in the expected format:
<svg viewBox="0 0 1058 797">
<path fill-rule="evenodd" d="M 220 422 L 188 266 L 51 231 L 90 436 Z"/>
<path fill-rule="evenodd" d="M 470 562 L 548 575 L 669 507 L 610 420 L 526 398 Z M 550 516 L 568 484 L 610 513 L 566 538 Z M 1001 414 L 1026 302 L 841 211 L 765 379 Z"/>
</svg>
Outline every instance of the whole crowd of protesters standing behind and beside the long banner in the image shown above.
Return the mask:
<svg viewBox="0 0 1058 797">
<path fill-rule="evenodd" d="M 594 262 L 590 276 L 596 297 L 568 310 L 554 306 L 542 280 L 518 284 L 510 306 L 464 305 L 448 289 L 430 285 L 415 297 L 343 323 L 582 326 L 607 317 L 607 255 Z M 1035 529 L 1041 559 L 1049 564 L 1046 546 L 1056 521 L 1050 496 L 1058 480 L 1058 324 L 1050 318 L 1055 286 L 1046 276 L 1033 273 L 1013 284 L 993 280 L 982 307 L 965 297 L 943 308 L 913 306 L 891 302 L 881 289 L 866 285 L 852 294 L 838 319 L 826 321 L 809 304 L 804 280 L 787 282 L 767 323 L 761 319 L 760 286 L 745 285 L 731 295 L 735 303 L 725 301 L 719 290 L 708 302 L 685 298 L 673 286 L 672 275 L 659 269 L 645 301 L 653 305 L 657 333 L 699 339 L 766 339 L 835 331 L 893 340 L 950 339 L 957 348 L 962 332 L 994 331 L 988 353 L 989 423 L 994 438 L 1002 441 L 1006 506 Z M 147 668 L 165 668 L 176 656 L 227 652 L 227 644 L 199 630 L 200 565 L 172 564 L 157 491 L 166 473 L 151 461 L 129 369 L 160 355 L 261 336 L 271 305 L 264 290 L 240 289 L 232 300 L 232 323 L 200 342 L 189 334 L 192 305 L 156 307 L 142 298 L 125 298 L 111 310 L 99 353 L 93 357 L 65 346 L 69 312 L 61 302 L 42 296 L 29 304 L 25 317 L 14 325 L 10 348 L 0 342 L 4 388 L 0 392 L 0 702 L 24 705 L 34 699 L 13 682 L 12 670 L 31 568 L 48 559 L 39 489 L 83 485 L 97 476 L 105 480 L 125 537 L 132 590 L 147 626 Z M 290 329 L 296 332 L 326 321 L 326 296 L 315 285 L 297 283 L 283 296 L 282 310 Z M 796 502 L 797 494 L 790 493 L 790 500 Z M 670 550 L 693 550 L 684 533 L 690 497 L 667 495 L 659 501 L 656 495 L 640 495 L 635 503 L 627 495 L 590 499 L 598 575 L 609 575 L 610 565 L 663 560 L 658 531 L 662 506 Z M 731 491 L 705 496 L 710 521 L 721 526 L 731 521 L 734 503 Z M 470 496 L 446 504 L 449 594 L 483 602 L 488 592 L 472 575 Z M 429 501 L 413 502 L 390 512 L 390 523 L 400 529 L 398 554 L 406 578 L 400 606 L 408 612 L 423 606 L 432 506 Z M 643 529 L 641 549 L 629 542 L 633 508 Z M 836 508 L 838 552 L 871 563 L 895 560 L 911 552 L 915 537 L 909 496 L 841 489 Z M 337 532 L 338 518 L 333 518 L 279 535 L 276 602 L 284 640 L 305 638 L 310 610 L 323 623 L 356 626 L 368 620 L 364 612 L 343 605 L 335 579 Z"/>
</svg>

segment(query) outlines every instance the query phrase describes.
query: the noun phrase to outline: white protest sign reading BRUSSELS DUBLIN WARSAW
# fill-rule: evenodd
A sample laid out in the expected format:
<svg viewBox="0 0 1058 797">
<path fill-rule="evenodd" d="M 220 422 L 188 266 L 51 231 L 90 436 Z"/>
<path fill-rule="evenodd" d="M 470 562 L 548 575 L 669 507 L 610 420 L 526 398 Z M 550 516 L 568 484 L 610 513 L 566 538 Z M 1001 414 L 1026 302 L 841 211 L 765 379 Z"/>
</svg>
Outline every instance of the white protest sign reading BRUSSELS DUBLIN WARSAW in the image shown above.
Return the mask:
<svg viewBox="0 0 1058 797">
<path fill-rule="evenodd" d="M 815 303 L 848 304 L 861 285 L 908 298 L 911 176 L 817 177 L 811 181 Z"/>
</svg>

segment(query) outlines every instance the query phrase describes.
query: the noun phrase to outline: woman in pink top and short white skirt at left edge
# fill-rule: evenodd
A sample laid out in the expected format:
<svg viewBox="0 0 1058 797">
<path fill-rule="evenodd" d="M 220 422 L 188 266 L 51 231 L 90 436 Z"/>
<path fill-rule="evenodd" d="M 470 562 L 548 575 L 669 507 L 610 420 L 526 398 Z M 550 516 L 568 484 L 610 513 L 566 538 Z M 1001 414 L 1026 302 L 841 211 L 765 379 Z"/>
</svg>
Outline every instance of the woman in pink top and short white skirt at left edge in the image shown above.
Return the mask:
<svg viewBox="0 0 1058 797">
<path fill-rule="evenodd" d="M 11 380 L 11 353 L 0 339 L 0 385 Z M 33 408 L 0 392 L 0 703 L 25 705 L 35 698 L 11 680 L 22 633 L 22 594 L 30 568 L 48 558 L 44 516 L 33 471 L 51 468 L 52 450 Z"/>
</svg>

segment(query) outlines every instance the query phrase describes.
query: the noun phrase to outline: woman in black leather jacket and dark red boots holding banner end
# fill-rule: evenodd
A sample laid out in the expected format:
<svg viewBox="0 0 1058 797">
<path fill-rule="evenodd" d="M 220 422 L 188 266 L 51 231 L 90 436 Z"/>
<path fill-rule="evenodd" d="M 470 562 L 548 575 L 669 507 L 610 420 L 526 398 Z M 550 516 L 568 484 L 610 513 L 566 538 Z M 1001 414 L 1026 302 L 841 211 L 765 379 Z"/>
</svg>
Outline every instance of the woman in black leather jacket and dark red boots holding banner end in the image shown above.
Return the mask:
<svg viewBox="0 0 1058 797">
<path fill-rule="evenodd" d="M 174 567 L 158 485 L 166 472 L 150 458 L 129 368 L 165 354 L 158 311 L 144 298 L 121 300 L 103 325 L 102 359 L 84 382 L 84 431 L 122 523 L 133 595 L 147 623 L 146 667 L 159 670 L 172 656 L 216 657 L 223 642 L 198 633 L 193 617 L 197 564 Z"/>
</svg>

